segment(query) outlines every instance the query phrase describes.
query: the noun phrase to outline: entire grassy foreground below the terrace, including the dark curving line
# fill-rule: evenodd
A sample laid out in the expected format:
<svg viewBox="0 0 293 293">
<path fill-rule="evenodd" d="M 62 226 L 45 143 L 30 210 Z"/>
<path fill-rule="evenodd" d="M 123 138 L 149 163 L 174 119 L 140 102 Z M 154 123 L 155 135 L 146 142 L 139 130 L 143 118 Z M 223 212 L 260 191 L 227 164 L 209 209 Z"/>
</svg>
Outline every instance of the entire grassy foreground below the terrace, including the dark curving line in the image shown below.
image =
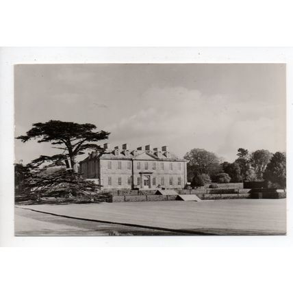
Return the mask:
<svg viewBox="0 0 293 293">
<path fill-rule="evenodd" d="M 285 215 L 285 199 L 25 205 L 15 234 L 284 235 Z"/>
</svg>

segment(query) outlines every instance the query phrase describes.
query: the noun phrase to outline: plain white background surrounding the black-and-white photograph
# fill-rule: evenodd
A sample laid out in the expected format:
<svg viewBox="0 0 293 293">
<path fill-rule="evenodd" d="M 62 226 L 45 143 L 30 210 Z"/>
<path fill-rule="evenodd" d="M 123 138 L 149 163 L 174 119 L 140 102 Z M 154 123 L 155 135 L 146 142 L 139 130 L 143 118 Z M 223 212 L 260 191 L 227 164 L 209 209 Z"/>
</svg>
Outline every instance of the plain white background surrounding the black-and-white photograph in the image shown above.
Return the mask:
<svg viewBox="0 0 293 293">
<path fill-rule="evenodd" d="M 6 46 L 196 48 L 1 49 L 0 245 L 38 246 L 1 249 L 1 291 L 292 292 L 293 53 L 272 48 L 292 46 L 292 11 L 290 1 L 280 0 L 5 1 L 0 36 Z M 288 235 L 14 238 L 12 64 L 41 62 L 287 63 Z"/>
</svg>

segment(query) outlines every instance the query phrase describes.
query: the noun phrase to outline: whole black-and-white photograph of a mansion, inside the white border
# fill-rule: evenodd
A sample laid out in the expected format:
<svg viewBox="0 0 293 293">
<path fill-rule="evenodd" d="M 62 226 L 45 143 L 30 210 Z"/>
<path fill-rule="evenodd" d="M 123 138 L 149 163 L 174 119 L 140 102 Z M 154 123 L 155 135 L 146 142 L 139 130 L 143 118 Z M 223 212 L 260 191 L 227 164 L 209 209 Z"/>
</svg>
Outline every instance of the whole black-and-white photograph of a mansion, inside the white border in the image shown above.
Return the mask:
<svg viewBox="0 0 293 293">
<path fill-rule="evenodd" d="M 286 65 L 14 65 L 14 235 L 286 235 Z"/>
</svg>

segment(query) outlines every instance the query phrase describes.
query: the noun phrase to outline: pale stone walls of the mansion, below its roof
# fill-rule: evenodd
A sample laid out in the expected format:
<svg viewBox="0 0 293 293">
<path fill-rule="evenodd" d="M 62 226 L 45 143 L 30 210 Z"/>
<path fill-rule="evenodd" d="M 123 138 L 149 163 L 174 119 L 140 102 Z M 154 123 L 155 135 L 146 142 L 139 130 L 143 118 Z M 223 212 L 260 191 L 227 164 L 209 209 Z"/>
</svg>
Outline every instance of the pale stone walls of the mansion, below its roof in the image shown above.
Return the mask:
<svg viewBox="0 0 293 293">
<path fill-rule="evenodd" d="M 143 188 L 144 176 L 149 178 L 149 188 L 184 188 L 186 186 L 186 162 L 92 159 L 81 162 L 81 173 L 84 173 L 84 178 L 100 179 L 103 189 Z"/>
</svg>

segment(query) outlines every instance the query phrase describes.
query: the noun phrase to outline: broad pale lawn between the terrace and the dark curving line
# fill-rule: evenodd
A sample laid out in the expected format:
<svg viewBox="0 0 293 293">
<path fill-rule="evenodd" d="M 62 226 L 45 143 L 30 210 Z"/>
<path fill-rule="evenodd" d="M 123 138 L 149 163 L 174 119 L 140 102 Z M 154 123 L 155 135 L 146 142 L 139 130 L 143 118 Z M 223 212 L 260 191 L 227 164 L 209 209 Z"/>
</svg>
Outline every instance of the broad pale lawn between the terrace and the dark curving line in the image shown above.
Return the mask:
<svg viewBox="0 0 293 293">
<path fill-rule="evenodd" d="M 132 225 L 134 230 L 162 229 L 176 231 L 178 234 L 284 235 L 286 232 L 285 199 L 229 199 L 197 203 L 151 201 L 19 207 L 71 218 L 71 235 L 75 234 L 74 226 L 79 227 L 81 219 L 128 227 Z M 16 231 L 23 229 L 21 226 L 21 221 L 16 222 Z M 58 230 L 58 227 L 52 230 L 55 229 Z M 82 234 L 82 231 L 76 233 Z M 85 235 L 88 234 L 90 229 L 87 229 Z M 64 235 L 68 233 L 64 232 Z M 92 231 L 92 235 L 97 233 Z"/>
</svg>

